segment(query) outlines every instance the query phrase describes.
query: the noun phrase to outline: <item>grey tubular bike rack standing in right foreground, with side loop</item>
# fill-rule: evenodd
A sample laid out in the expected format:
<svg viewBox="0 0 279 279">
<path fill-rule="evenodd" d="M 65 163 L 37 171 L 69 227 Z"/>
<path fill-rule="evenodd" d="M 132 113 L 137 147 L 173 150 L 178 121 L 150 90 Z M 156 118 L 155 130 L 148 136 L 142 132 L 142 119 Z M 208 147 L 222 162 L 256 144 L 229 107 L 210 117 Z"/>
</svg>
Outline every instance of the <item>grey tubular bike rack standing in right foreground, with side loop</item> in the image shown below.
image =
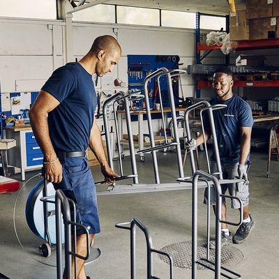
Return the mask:
<svg viewBox="0 0 279 279">
<path fill-rule="evenodd" d="M 213 181 L 213 186 L 216 191 L 216 227 L 215 227 L 215 241 L 216 241 L 216 247 L 215 247 L 215 262 L 212 262 L 209 259 L 209 206 L 210 203 L 208 203 L 208 218 L 207 218 L 207 254 L 205 258 L 197 259 L 197 182 L 199 180 L 199 176 L 206 179 L 206 181 Z M 239 181 L 239 180 L 236 180 Z M 232 180 L 233 182 L 233 180 Z M 208 183 L 208 182 L 207 182 Z M 209 188 L 208 183 L 208 188 Z M 210 192 L 210 191 L 209 191 Z M 206 172 L 203 172 L 201 170 L 197 170 L 193 176 L 193 205 L 192 205 L 192 279 L 197 278 L 197 264 L 200 264 L 204 266 L 207 269 L 210 269 L 211 271 L 215 272 L 215 279 L 219 279 L 220 276 L 224 276 L 225 278 L 229 279 L 236 279 L 241 278 L 241 275 L 238 273 L 235 273 L 234 271 L 231 271 L 225 267 L 221 266 L 221 223 L 226 223 L 229 225 L 239 226 L 241 225 L 243 221 L 243 205 L 241 200 L 238 197 L 231 197 L 227 195 L 222 195 L 222 190 L 220 187 L 220 180 L 213 176 L 212 174 L 207 174 Z M 210 195 L 210 194 L 209 194 Z M 228 221 L 221 220 L 221 206 L 222 206 L 222 197 L 227 197 L 231 199 L 237 199 L 240 203 L 240 220 L 239 223 L 232 223 Z M 211 264 L 214 266 L 212 268 L 211 266 L 206 265 Z M 231 277 L 227 273 L 222 273 L 221 269 L 232 276 Z"/>
</svg>

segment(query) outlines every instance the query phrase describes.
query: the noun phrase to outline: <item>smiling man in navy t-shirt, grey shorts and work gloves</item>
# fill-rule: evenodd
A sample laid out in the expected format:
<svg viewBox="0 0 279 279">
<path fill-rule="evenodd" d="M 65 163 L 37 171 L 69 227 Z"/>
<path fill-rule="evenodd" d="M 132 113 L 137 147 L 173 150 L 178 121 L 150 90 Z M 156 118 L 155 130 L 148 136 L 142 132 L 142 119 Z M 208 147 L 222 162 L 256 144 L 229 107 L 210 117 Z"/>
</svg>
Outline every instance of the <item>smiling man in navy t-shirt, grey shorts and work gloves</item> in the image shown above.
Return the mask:
<svg viewBox="0 0 279 279">
<path fill-rule="evenodd" d="M 222 165 L 224 179 L 245 179 L 248 181 L 247 169 L 250 164 L 250 138 L 252 133 L 252 112 L 245 100 L 232 93 L 232 72 L 229 68 L 218 70 L 213 75 L 213 90 L 216 96 L 210 101 L 211 105 L 223 104 L 226 108 L 214 110 L 213 117 L 216 128 L 218 149 Z M 205 140 L 211 136 L 209 119 L 204 117 Z M 196 148 L 202 144 L 204 139 L 202 135 L 194 140 L 193 146 Z M 216 160 L 211 156 L 211 172 L 218 172 Z M 243 204 L 243 223 L 237 229 L 236 234 L 232 237 L 227 224 L 222 223 L 221 243 L 222 245 L 231 243 L 242 243 L 249 235 L 255 222 L 249 214 L 249 191 L 248 183 L 239 183 L 236 189 L 236 183 L 221 185 L 223 195 L 229 190 L 229 195 L 239 197 Z M 204 193 L 204 203 L 208 202 L 208 189 Z M 216 195 L 215 190 L 211 187 L 211 200 L 215 209 Z M 232 208 L 239 209 L 240 204 L 236 199 L 232 199 Z M 225 198 L 222 204 L 222 220 L 227 220 L 227 208 Z M 211 248 L 215 248 L 215 241 L 211 241 Z"/>
</svg>

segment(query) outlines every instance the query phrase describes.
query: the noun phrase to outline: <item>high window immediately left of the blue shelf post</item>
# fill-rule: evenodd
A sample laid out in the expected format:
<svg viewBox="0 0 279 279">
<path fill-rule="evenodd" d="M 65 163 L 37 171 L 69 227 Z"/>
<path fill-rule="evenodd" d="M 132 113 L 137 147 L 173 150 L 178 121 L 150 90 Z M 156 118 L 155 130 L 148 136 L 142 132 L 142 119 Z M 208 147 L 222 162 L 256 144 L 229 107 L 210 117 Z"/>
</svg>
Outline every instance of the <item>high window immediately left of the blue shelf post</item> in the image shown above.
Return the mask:
<svg viewBox="0 0 279 279">
<path fill-rule="evenodd" d="M 161 10 L 161 23 L 163 27 L 196 28 L 196 14 Z"/>
</svg>

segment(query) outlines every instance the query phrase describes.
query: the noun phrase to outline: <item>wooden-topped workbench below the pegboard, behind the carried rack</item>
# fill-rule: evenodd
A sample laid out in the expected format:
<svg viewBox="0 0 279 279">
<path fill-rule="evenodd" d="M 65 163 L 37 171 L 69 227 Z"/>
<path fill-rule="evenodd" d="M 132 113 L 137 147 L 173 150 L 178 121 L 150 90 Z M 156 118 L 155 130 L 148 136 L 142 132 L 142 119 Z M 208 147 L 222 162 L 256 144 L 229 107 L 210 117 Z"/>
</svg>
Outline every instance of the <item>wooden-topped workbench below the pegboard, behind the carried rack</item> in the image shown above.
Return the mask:
<svg viewBox="0 0 279 279">
<path fill-rule="evenodd" d="M 185 112 L 187 110 L 186 107 L 176 107 L 176 112 Z M 163 115 L 164 115 L 164 120 L 166 123 L 166 128 L 167 128 L 167 113 L 171 112 L 172 110 L 170 107 L 164 107 L 163 108 Z M 125 110 L 116 110 L 117 114 L 117 125 L 119 128 L 119 135 L 121 137 L 120 143 L 121 145 L 128 144 L 128 140 L 123 139 L 123 116 L 125 115 Z M 151 110 L 151 114 L 162 114 L 162 110 Z M 135 115 L 137 116 L 137 134 L 138 134 L 138 141 L 134 142 L 135 147 L 137 147 L 139 150 L 144 149 L 144 146 L 148 145 L 150 146 L 150 142 L 144 142 L 144 132 L 143 132 L 143 124 L 144 124 L 144 115 L 146 115 L 146 110 L 137 110 L 137 111 L 130 111 L 130 115 Z M 163 143 L 165 141 L 165 137 L 156 137 L 154 140 L 156 144 Z M 139 153 L 140 159 L 143 161 L 144 160 L 144 154 Z"/>
</svg>

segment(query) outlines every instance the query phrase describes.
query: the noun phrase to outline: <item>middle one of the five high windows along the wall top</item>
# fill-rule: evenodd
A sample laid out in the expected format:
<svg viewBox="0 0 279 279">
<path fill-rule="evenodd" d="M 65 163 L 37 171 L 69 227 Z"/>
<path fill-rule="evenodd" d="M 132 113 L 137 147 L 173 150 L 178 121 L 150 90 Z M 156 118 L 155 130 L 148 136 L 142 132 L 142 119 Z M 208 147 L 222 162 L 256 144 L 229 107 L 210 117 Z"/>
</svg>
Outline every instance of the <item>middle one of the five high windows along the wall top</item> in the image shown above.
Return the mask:
<svg viewBox="0 0 279 279">
<path fill-rule="evenodd" d="M 116 6 L 117 23 L 160 26 L 160 10 Z"/>
</svg>

